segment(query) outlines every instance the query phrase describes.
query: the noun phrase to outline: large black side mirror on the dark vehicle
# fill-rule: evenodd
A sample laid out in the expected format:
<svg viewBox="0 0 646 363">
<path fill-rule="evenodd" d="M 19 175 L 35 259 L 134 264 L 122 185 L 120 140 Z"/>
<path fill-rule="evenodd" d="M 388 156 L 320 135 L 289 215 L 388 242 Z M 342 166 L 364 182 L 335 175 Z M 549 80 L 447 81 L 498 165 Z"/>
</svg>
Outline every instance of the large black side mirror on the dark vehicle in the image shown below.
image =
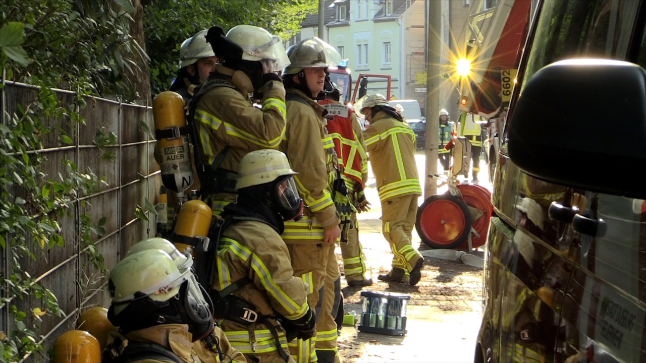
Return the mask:
<svg viewBox="0 0 646 363">
<path fill-rule="evenodd" d="M 646 70 L 640 66 L 611 59 L 547 65 L 510 105 L 508 123 L 509 157 L 526 173 L 646 199 L 639 177 L 646 167 Z"/>
</svg>

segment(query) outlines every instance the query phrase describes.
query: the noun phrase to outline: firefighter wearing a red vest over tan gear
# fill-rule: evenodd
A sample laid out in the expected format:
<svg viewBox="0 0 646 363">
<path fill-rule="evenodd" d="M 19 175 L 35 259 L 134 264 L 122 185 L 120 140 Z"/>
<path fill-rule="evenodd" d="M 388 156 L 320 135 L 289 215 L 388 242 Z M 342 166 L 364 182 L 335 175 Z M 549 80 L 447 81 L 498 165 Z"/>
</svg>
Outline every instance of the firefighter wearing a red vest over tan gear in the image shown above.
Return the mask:
<svg viewBox="0 0 646 363">
<path fill-rule="evenodd" d="M 335 86 L 333 84 L 333 86 Z M 366 143 L 361 132 L 361 125 L 354 110 L 340 103 L 339 88 L 333 87 L 326 94 L 326 99 L 320 101 L 328 110 L 329 135 L 334 141 L 334 149 L 343 166 L 342 178 L 346 184 L 350 202 L 355 205 L 357 212 L 368 211 L 370 203 L 364 195 L 364 187 L 368 182 L 368 156 Z M 351 228 L 348 237 L 341 238 L 341 254 L 349 286 L 370 286 L 370 273 L 366 277 L 366 256 L 359 242 L 359 225 L 357 212 L 351 213 Z"/>
</svg>

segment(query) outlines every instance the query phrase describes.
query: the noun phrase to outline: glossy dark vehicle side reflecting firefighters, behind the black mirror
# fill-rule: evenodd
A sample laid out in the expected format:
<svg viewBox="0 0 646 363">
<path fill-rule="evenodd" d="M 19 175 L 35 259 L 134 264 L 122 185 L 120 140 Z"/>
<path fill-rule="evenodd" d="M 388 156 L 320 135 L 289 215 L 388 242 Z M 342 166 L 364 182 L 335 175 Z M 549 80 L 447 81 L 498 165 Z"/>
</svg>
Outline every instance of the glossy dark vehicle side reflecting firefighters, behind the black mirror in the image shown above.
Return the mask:
<svg viewBox="0 0 646 363">
<path fill-rule="evenodd" d="M 555 61 L 596 57 L 646 67 L 645 27 L 642 1 L 541 1 L 525 43 L 510 116 L 525 82 Z M 585 90 L 572 95 L 572 107 L 580 107 L 576 101 L 581 98 Z M 475 361 L 646 362 L 644 200 L 526 174 L 507 148 L 513 119 L 506 118 L 505 133 L 498 130 L 494 217 Z M 641 121 L 609 120 L 608 130 L 621 132 L 612 127 Z M 599 152 L 612 152 L 603 140 L 598 142 Z M 552 162 L 562 165 L 569 157 Z M 616 173 L 617 183 L 638 177 L 612 165 L 599 165 L 596 172 Z M 577 222 L 581 220 L 594 222 L 594 228 Z"/>
</svg>

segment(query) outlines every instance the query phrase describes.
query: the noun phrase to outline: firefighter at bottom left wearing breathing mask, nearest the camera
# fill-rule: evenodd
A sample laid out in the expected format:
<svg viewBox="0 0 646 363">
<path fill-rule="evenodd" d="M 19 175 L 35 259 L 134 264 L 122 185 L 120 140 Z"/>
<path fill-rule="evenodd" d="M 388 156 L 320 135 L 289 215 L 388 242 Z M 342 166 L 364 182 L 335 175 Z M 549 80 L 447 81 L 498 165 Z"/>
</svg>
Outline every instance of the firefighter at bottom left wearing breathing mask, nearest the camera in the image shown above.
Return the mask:
<svg viewBox="0 0 646 363">
<path fill-rule="evenodd" d="M 142 249 L 112 269 L 108 318 L 119 331 L 110 333 L 102 362 L 247 361 L 214 325 L 191 265 Z"/>
</svg>

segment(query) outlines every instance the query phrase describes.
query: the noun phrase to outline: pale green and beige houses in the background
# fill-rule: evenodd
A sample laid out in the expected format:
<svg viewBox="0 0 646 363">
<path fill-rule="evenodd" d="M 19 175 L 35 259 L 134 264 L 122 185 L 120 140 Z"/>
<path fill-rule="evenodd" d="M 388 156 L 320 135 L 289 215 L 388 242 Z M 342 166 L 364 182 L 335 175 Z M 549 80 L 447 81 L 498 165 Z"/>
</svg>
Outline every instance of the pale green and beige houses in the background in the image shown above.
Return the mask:
<svg viewBox="0 0 646 363">
<path fill-rule="evenodd" d="M 452 70 L 455 54 L 466 45 L 469 7 L 481 0 L 442 1 L 441 63 L 446 74 L 440 89 L 443 108 L 457 115 L 459 93 Z M 495 2 L 496 0 L 484 0 Z M 426 112 L 426 48 L 428 1 L 426 0 L 324 0 L 326 34 L 318 34 L 318 14 L 306 17 L 298 34 L 287 45 L 318 36 L 348 59 L 354 90 L 359 74 L 391 78 L 391 99 L 417 99 Z M 369 93 L 386 96 L 387 82 L 370 78 Z"/>
</svg>

